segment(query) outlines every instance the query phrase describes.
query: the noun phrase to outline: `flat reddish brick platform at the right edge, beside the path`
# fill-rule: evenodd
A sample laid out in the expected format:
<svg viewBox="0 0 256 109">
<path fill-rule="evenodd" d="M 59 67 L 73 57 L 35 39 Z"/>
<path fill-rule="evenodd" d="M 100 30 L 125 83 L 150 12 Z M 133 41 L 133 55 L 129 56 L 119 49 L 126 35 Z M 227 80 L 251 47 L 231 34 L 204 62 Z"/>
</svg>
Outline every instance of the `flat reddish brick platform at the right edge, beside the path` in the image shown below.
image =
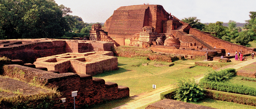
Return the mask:
<svg viewBox="0 0 256 109">
<path fill-rule="evenodd" d="M 244 68 L 237 70 L 237 75 L 239 76 L 244 76 L 244 77 L 251 77 L 251 78 L 256 78 L 256 62 L 253 62 L 252 64 L 249 64 L 245 66 Z"/>
</svg>

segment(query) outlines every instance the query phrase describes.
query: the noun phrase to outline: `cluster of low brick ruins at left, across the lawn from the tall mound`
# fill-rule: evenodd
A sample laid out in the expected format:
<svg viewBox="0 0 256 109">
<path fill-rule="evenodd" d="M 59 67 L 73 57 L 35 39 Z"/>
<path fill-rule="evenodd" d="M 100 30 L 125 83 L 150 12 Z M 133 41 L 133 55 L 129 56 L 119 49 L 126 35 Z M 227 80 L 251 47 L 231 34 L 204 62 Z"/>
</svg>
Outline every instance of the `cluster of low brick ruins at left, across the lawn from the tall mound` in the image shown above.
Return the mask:
<svg viewBox="0 0 256 109">
<path fill-rule="evenodd" d="M 114 43 L 107 41 L 0 40 L 1 57 L 12 60 L 3 66 L 2 75 L 28 82 L 35 79 L 47 86 L 57 86 L 57 90 L 63 93 L 61 98 L 66 98 L 65 107 L 74 105 L 72 91 L 78 91 L 78 108 L 129 97 L 128 87 L 91 76 L 118 69 L 112 47 Z M 60 98 L 56 101 L 55 108 L 63 106 Z"/>
</svg>

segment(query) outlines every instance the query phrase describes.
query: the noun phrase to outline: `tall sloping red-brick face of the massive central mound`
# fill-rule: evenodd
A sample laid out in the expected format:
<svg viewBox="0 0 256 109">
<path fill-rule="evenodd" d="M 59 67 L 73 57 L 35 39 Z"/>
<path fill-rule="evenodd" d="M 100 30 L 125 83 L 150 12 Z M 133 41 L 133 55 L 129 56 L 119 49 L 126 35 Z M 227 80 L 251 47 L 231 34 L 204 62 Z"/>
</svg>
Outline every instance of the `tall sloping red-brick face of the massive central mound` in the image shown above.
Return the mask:
<svg viewBox="0 0 256 109">
<path fill-rule="evenodd" d="M 142 31 L 144 26 L 152 26 L 155 32 L 162 33 L 162 21 L 169 14 L 161 5 L 132 5 L 120 7 L 114 11 L 111 19 L 106 21 L 108 36 L 116 37 L 116 42 L 124 45 L 125 38 L 132 38 Z"/>
</svg>

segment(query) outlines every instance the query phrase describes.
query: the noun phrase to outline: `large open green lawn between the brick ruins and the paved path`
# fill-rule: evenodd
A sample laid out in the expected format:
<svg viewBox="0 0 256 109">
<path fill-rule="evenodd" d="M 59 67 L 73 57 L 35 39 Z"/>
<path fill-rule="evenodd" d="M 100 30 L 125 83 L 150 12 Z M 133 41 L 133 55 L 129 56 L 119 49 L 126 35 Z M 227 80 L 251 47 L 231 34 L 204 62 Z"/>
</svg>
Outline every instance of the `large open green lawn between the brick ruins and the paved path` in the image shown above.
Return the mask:
<svg viewBox="0 0 256 109">
<path fill-rule="evenodd" d="M 171 64 L 170 62 L 156 62 L 140 58 L 118 57 L 119 70 L 108 71 L 102 74 L 97 74 L 93 77 L 104 79 L 106 82 L 115 82 L 118 85 L 127 86 L 130 88 L 130 96 L 148 92 L 153 90 L 152 84 L 157 88 L 175 83 L 179 78 L 191 78 L 204 74 L 210 67 L 192 66 L 196 60 L 179 60 L 173 66 L 155 67 L 153 64 Z M 148 66 L 142 66 L 142 63 L 148 63 Z"/>
</svg>

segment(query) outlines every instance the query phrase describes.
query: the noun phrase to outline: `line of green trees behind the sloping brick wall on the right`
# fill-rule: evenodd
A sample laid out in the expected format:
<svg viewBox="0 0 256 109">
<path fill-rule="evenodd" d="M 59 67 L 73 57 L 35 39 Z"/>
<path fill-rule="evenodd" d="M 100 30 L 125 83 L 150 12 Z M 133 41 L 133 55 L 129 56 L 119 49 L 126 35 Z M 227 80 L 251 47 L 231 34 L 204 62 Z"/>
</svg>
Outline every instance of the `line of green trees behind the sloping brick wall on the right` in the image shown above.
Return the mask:
<svg viewBox="0 0 256 109">
<path fill-rule="evenodd" d="M 241 27 L 237 27 L 236 21 L 233 20 L 227 23 L 228 27 L 224 26 L 221 21 L 206 25 L 200 23 L 200 19 L 196 17 L 184 18 L 182 21 L 191 25 L 192 28 L 199 29 L 203 32 L 210 32 L 212 36 L 219 39 L 250 47 L 249 41 L 256 39 L 256 12 L 251 11 L 249 13 L 250 20 L 246 20 L 244 25 L 244 29 L 246 30 L 244 31 L 242 31 Z"/>
</svg>

